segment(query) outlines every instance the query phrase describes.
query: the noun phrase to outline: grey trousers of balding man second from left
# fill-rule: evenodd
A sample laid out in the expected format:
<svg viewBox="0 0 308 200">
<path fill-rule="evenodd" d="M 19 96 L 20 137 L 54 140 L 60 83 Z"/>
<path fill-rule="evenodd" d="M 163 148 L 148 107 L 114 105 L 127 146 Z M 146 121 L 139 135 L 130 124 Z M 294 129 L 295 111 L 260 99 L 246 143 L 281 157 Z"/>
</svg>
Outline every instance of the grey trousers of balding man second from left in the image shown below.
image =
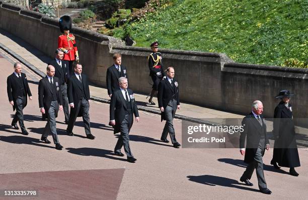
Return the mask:
<svg viewBox="0 0 308 200">
<path fill-rule="evenodd" d="M 45 126 L 42 138 L 47 138 L 49 133 L 52 134 L 53 143 L 59 143 L 57 135 L 57 127 L 55 121 L 55 114 L 59 111 L 58 101 L 52 101 L 47 114 L 47 124 Z"/>
</svg>

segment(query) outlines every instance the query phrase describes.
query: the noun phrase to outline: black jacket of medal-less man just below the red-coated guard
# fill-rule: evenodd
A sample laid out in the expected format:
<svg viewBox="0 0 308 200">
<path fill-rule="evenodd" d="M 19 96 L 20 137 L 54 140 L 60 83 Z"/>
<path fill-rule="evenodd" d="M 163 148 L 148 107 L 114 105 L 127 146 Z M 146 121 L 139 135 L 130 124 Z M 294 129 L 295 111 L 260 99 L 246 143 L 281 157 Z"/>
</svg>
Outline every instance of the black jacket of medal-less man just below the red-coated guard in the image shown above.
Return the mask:
<svg viewBox="0 0 308 200">
<path fill-rule="evenodd" d="M 67 86 L 67 97 L 68 103 L 74 103 L 74 106 L 77 106 L 80 99 L 83 96 L 83 89 L 85 90 L 85 98 L 87 100 L 90 99 L 90 89 L 89 89 L 89 81 L 86 74 L 81 73 L 82 82 L 76 77 L 73 73 L 71 74 L 70 78 L 68 79 L 68 86 Z"/>
</svg>

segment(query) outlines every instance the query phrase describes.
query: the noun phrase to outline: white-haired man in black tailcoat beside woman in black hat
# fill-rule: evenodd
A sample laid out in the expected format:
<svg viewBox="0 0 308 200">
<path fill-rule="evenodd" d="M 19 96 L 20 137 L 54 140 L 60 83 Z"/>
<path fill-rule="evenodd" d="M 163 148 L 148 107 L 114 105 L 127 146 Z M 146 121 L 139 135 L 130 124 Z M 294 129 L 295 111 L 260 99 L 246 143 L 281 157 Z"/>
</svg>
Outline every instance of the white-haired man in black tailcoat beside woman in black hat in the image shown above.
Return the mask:
<svg viewBox="0 0 308 200">
<path fill-rule="evenodd" d="M 266 136 L 266 124 L 264 117 L 261 115 L 262 112 L 262 102 L 254 101 L 252 112 L 242 121 L 243 132 L 240 136 L 240 152 L 242 155 L 245 155 L 244 162 L 248 163 L 248 166 L 240 180 L 245 182 L 246 185 L 252 186 L 253 184 L 249 180 L 256 169 L 260 191 L 265 194 L 271 194 L 271 190 L 266 186 L 263 172 L 262 157 L 265 149 L 269 150 L 269 140 Z M 246 136 L 247 145 L 245 151 Z"/>
</svg>

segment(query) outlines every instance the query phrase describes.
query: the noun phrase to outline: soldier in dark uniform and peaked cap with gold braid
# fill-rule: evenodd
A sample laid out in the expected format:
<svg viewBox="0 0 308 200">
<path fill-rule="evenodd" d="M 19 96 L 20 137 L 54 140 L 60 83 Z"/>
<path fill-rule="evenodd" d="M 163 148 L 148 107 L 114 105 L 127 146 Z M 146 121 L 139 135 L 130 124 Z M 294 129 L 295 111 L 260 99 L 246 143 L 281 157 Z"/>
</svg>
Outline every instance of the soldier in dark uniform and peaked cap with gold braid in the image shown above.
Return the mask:
<svg viewBox="0 0 308 200">
<path fill-rule="evenodd" d="M 160 81 L 164 77 L 164 70 L 163 70 L 163 63 L 162 63 L 162 54 L 158 52 L 159 43 L 153 42 L 150 45 L 152 49 L 152 53 L 148 56 L 148 68 L 149 68 L 149 75 L 153 80 L 152 91 L 150 93 L 150 98 L 148 99 L 148 103 L 151 105 L 155 105 L 152 101 L 152 98 L 155 94 L 157 94 L 158 86 Z"/>
</svg>

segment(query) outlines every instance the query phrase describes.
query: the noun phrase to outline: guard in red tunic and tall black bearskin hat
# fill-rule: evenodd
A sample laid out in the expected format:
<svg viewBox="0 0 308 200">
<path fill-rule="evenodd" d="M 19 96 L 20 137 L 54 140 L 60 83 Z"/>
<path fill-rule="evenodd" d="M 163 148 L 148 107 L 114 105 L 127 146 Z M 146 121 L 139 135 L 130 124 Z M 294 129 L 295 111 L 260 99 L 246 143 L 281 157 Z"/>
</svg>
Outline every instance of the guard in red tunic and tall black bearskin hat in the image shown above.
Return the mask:
<svg viewBox="0 0 308 200">
<path fill-rule="evenodd" d="M 64 51 L 63 60 L 67 60 L 69 64 L 69 73 L 72 72 L 74 61 L 79 61 L 78 50 L 76 46 L 75 36 L 71 34 L 71 19 L 69 16 L 62 16 L 59 20 L 59 27 L 62 35 L 58 38 L 58 48 Z"/>
</svg>

